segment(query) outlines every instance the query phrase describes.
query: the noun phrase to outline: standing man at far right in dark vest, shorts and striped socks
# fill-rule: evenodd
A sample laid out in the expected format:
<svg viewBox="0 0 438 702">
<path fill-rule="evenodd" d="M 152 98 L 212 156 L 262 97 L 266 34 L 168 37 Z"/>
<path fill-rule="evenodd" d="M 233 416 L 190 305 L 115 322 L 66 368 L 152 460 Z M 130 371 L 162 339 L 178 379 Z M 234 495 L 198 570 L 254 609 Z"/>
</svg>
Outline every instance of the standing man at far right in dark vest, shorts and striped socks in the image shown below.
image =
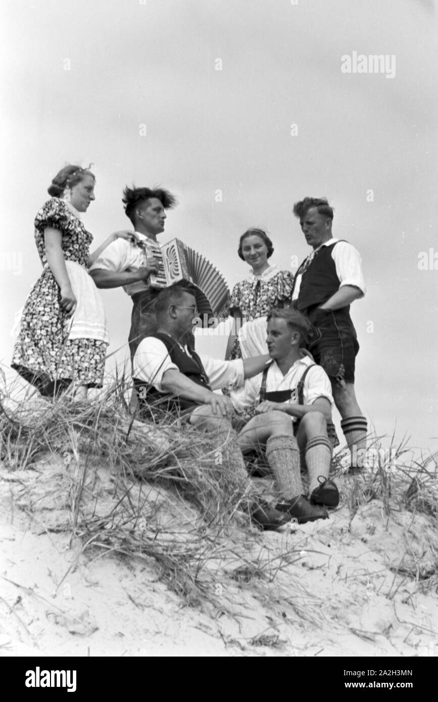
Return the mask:
<svg viewBox="0 0 438 702">
<path fill-rule="evenodd" d="M 354 246 L 333 237 L 333 209 L 325 197 L 305 197 L 293 206 L 293 213 L 313 250 L 296 273 L 292 304 L 313 325 L 307 349 L 331 380 L 351 468 L 357 470 L 363 466 L 356 465 L 353 457 L 365 455 L 367 424 L 354 393 L 359 343 L 350 304 L 366 292 L 361 257 Z"/>
</svg>

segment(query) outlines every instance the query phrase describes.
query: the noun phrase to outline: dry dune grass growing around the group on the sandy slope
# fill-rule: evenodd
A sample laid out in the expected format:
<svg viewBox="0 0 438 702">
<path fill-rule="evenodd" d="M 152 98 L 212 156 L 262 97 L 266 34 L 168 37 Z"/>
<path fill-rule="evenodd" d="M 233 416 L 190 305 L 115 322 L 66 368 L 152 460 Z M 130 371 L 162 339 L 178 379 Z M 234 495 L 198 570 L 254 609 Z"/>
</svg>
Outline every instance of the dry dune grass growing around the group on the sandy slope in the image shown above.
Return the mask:
<svg viewBox="0 0 438 702">
<path fill-rule="evenodd" d="M 49 402 L 32 392 L 13 402 L 4 386 L 4 466 L 29 470 L 49 454 L 65 467 L 69 523 L 59 528 L 72 543 L 79 540 L 81 554 L 154 564 L 185 604 L 215 611 L 233 610 L 226 583 L 251 582 L 260 597 L 288 602 L 298 618 L 320 625 L 321 602 L 291 569 L 301 558 L 299 539 L 283 538 L 272 555 L 251 526 L 246 495 L 227 460 L 227 440 L 218 444 L 174 416 L 162 416 L 159 425 L 140 422 L 128 414 L 130 392 L 124 373 L 81 403 L 69 397 Z M 383 438 L 370 437 L 369 444 L 378 448 Z M 394 437 L 390 447 L 391 461 L 380 465 L 378 456 L 369 471 L 343 485 L 351 519 L 375 498 L 388 514 L 404 509 L 437 517 L 437 456 L 408 461 L 407 442 L 396 444 Z M 340 453 L 333 475 L 343 475 Z M 287 588 L 278 584 L 280 573 L 288 574 Z M 432 588 L 433 578 L 431 573 L 428 584 L 423 578 L 423 586 Z"/>
</svg>

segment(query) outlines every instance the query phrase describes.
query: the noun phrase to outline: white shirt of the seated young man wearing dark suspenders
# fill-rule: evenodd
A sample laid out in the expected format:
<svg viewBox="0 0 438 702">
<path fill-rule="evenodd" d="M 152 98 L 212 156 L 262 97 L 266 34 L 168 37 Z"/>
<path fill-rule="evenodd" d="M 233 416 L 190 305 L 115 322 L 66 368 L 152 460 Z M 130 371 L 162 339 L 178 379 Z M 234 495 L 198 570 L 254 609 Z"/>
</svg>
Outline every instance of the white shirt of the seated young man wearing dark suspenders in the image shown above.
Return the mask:
<svg viewBox="0 0 438 702">
<path fill-rule="evenodd" d="M 281 373 L 279 366 L 275 361 L 271 363 L 266 378 L 266 392 L 276 392 L 277 390 L 294 390 L 298 386 L 298 382 L 303 376 L 307 366 L 311 366 L 313 361 L 309 357 L 298 359 L 293 366 L 287 371 L 284 376 Z M 247 378 L 243 388 L 232 390 L 231 400 L 234 409 L 242 411 L 245 407 L 251 407 L 260 402 L 260 388 L 262 386 L 263 373 L 258 373 L 253 378 Z M 304 379 L 303 402 L 304 404 L 313 404 L 318 397 L 326 397 L 333 407 L 333 397 L 331 395 L 331 383 L 328 380 L 326 371 L 321 366 L 314 366 L 308 371 Z M 287 400 L 287 404 L 298 404 L 298 391 L 294 393 L 291 399 Z M 296 421 L 296 417 L 291 417 Z"/>
</svg>

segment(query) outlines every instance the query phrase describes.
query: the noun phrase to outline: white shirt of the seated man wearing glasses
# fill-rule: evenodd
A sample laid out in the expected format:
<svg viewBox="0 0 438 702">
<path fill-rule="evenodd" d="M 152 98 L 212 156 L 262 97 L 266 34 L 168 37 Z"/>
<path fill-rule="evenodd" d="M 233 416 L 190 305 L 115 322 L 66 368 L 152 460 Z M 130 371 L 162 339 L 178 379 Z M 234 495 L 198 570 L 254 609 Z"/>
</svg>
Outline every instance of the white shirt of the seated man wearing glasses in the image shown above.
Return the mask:
<svg viewBox="0 0 438 702">
<path fill-rule="evenodd" d="M 192 357 L 187 346 L 180 345 L 180 347 Z M 220 388 L 226 388 L 227 385 L 237 388 L 244 384 L 244 362 L 241 359 L 218 361 L 218 359 L 203 354 L 199 354 L 199 358 L 212 390 L 220 390 Z M 133 360 L 133 378 L 154 385 L 154 388 L 157 388 L 159 392 L 166 392 L 161 387 L 161 383 L 164 373 L 169 369 L 179 370 L 178 366 L 171 362 L 167 348 L 161 340 L 149 336 L 140 341 Z"/>
</svg>

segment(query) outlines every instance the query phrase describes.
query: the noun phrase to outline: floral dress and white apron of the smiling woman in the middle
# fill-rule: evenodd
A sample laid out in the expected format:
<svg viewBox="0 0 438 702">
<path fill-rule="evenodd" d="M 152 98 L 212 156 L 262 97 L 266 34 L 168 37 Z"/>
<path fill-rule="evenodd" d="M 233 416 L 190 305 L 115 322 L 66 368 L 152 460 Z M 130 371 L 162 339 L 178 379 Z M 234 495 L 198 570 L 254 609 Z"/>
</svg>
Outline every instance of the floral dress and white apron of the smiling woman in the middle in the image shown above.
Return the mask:
<svg viewBox="0 0 438 702">
<path fill-rule="evenodd" d="M 261 275 L 253 272 L 232 289 L 230 314 L 239 309 L 242 325 L 231 351 L 231 359 L 251 358 L 267 353 L 266 317 L 272 307 L 291 300 L 293 273 L 271 265 Z"/>
</svg>

